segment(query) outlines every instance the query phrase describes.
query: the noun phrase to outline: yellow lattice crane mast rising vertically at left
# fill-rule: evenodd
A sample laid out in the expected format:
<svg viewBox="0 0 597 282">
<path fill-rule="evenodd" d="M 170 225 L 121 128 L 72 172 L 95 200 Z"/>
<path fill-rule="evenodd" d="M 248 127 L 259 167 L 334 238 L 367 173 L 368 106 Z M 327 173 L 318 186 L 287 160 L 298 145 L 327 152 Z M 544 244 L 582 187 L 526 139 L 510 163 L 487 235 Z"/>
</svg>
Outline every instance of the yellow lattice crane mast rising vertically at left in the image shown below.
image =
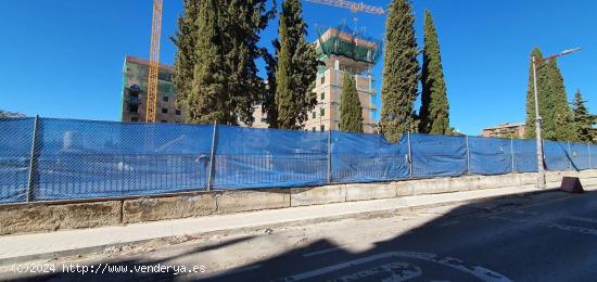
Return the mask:
<svg viewBox="0 0 597 282">
<path fill-rule="evenodd" d="M 145 121 L 155 123 L 157 104 L 157 74 L 160 73 L 160 37 L 162 36 L 162 7 L 164 0 L 153 0 L 153 18 L 151 21 L 151 48 L 148 79 L 148 105 Z"/>
</svg>

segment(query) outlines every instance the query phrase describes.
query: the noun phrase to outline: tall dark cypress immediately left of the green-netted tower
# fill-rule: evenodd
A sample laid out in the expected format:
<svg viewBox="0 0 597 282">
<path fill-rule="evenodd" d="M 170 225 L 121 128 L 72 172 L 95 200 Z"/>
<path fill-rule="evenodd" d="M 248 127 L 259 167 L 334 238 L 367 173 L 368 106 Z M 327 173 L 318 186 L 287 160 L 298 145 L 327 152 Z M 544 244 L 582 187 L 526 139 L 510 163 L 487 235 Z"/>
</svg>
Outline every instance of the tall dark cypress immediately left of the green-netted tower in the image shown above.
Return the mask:
<svg viewBox="0 0 597 282">
<path fill-rule="evenodd" d="M 300 0 L 284 0 L 279 20 L 280 51 L 276 69 L 276 106 L 278 128 L 300 129 L 307 112 L 317 104 L 312 91 L 317 76 L 317 53 L 307 43 L 307 25 Z"/>
</svg>

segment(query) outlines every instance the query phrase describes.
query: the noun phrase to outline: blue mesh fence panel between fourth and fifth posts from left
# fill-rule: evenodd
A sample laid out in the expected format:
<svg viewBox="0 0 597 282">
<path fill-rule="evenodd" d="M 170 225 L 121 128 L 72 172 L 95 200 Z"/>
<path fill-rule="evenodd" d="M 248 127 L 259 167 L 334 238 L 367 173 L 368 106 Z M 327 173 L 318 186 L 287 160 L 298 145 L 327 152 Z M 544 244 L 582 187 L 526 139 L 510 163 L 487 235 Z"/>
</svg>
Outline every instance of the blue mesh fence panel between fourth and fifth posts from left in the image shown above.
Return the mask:
<svg viewBox="0 0 597 282">
<path fill-rule="evenodd" d="M 407 139 L 403 134 L 401 143 Z M 467 172 L 466 137 L 410 134 L 414 177 L 460 176 Z"/>
</svg>

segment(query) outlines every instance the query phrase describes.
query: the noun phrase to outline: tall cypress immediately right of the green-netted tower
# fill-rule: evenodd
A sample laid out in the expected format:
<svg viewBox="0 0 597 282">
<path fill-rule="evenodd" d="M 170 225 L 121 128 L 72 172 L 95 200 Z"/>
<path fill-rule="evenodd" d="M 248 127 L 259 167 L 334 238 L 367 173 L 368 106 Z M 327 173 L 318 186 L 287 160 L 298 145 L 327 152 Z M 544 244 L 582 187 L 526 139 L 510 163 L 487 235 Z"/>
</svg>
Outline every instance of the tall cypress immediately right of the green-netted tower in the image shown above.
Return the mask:
<svg viewBox="0 0 597 282">
<path fill-rule="evenodd" d="M 385 22 L 385 56 L 382 73 L 381 130 L 390 142 L 399 141 L 412 128 L 412 104 L 417 99 L 419 62 L 415 16 L 408 0 L 394 0 Z"/>
</svg>

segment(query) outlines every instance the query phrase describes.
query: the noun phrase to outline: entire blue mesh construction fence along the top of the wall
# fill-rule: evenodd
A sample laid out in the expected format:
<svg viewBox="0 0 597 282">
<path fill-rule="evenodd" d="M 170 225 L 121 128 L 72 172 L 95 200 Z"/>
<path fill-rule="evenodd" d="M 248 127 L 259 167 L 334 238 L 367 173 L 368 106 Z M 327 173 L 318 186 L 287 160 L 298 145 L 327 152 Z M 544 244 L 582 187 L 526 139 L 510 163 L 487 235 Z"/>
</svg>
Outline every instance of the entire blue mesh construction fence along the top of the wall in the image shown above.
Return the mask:
<svg viewBox="0 0 597 282">
<path fill-rule="evenodd" d="M 549 170 L 597 168 L 596 144 L 544 144 Z M 0 119 L 0 203 L 536 170 L 535 140 Z"/>
</svg>

